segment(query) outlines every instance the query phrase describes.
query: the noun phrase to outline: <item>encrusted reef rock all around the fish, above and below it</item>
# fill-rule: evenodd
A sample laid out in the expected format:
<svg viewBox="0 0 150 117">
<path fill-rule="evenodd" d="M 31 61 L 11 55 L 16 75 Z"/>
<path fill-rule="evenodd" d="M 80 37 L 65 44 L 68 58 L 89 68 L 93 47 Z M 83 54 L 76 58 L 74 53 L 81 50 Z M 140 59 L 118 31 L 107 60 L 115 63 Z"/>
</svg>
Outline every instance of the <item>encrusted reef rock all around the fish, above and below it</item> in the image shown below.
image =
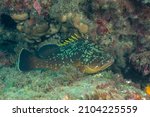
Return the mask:
<svg viewBox="0 0 150 117">
<path fill-rule="evenodd" d="M 150 83 L 149 16 L 149 0 L 1 0 L 0 98 L 147 99 L 143 91 Z M 115 82 L 119 83 L 121 89 L 110 80 L 109 87 L 114 93 L 110 93 L 111 90 L 107 87 L 106 92 L 101 90 L 101 87 L 108 86 L 107 83 L 101 82 L 105 82 L 110 75 L 109 72 L 104 72 L 103 76 L 106 79 L 98 76 L 98 80 L 95 79 L 95 75 L 82 76 L 83 74 L 78 73 L 81 76 L 76 76 L 74 71 L 62 75 L 67 66 L 57 73 L 40 70 L 29 73 L 18 71 L 18 58 L 23 48 L 37 55 L 37 51 L 43 45 L 72 43 L 70 37 L 73 34 L 80 35 L 85 41 L 92 41 L 113 57 L 114 64 L 109 68 L 112 71 L 111 78 L 115 79 L 116 73 L 121 75 L 122 80 Z M 12 72 L 12 76 L 9 72 Z M 36 73 L 38 75 L 34 77 Z M 54 83 L 55 77 L 57 80 Z M 126 85 L 126 79 L 131 80 L 131 84 Z M 19 82 L 21 80 L 22 82 Z M 41 81 L 43 84 L 40 84 Z M 141 88 L 135 87 L 132 81 Z M 65 83 L 67 85 L 64 85 Z M 37 87 L 33 88 L 34 86 Z M 91 92 L 86 94 L 85 87 L 88 86 Z M 114 90 L 115 88 L 119 91 Z M 37 89 L 40 89 L 40 93 Z M 83 90 L 80 92 L 79 89 Z M 61 90 L 61 96 L 54 95 Z M 66 93 L 67 90 L 71 93 Z M 76 94 L 73 94 L 74 90 Z M 20 96 L 20 92 L 23 92 L 23 95 Z"/>
</svg>

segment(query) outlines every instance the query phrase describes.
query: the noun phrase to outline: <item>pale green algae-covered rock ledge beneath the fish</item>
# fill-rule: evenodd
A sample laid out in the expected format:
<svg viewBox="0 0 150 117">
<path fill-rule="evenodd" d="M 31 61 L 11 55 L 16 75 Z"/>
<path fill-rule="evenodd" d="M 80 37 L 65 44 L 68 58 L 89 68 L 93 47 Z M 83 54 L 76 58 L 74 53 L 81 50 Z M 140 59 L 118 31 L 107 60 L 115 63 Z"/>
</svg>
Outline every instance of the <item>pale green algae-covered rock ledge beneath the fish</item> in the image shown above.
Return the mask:
<svg viewBox="0 0 150 117">
<path fill-rule="evenodd" d="M 68 68 L 66 70 L 68 71 Z M 73 68 L 72 72 L 27 73 L 19 72 L 15 68 L 2 68 L 0 99 L 131 99 L 133 97 L 129 95 L 135 93 L 140 95 L 141 99 L 146 98 L 141 89 L 111 71 L 94 75 L 77 73 Z"/>
</svg>

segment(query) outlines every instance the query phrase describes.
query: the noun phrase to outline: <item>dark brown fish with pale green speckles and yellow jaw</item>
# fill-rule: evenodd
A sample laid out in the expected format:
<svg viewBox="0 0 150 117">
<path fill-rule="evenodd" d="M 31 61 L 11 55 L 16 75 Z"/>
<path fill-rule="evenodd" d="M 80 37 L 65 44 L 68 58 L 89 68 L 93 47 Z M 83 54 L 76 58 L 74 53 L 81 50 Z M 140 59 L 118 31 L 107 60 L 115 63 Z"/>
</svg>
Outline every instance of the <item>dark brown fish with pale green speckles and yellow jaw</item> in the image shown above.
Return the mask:
<svg viewBox="0 0 150 117">
<path fill-rule="evenodd" d="M 26 60 L 27 63 L 24 63 L 26 65 L 26 69 L 24 70 L 21 67 L 19 67 L 19 69 L 21 71 L 28 71 L 27 66 L 29 65 L 29 70 L 35 68 L 48 68 L 54 70 L 59 69 L 62 66 L 72 64 L 79 68 L 80 71 L 86 73 L 87 67 L 98 72 L 106 69 L 113 63 L 112 56 L 110 54 L 106 54 L 103 48 L 100 48 L 96 44 L 84 39 L 74 41 L 66 44 L 65 46 L 44 45 L 37 53 L 38 57 L 35 57 L 30 53 L 27 54 L 26 52 L 26 56 L 28 56 L 28 60 Z M 21 56 L 23 56 L 23 53 L 21 53 Z M 23 60 L 21 60 L 23 59 L 21 56 L 19 60 L 20 66 L 21 62 L 23 62 Z M 99 67 L 99 69 L 95 67 Z M 95 72 L 92 71 L 91 73 Z"/>
</svg>

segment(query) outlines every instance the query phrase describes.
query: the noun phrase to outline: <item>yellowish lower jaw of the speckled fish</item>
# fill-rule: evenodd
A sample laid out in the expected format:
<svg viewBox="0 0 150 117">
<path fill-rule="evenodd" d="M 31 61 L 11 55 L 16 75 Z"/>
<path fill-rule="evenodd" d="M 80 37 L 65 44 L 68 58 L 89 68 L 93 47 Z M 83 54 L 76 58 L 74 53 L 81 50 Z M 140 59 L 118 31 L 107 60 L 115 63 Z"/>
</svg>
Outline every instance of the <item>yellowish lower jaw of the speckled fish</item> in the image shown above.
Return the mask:
<svg viewBox="0 0 150 117">
<path fill-rule="evenodd" d="M 78 68 L 80 70 L 80 72 L 85 73 L 85 74 L 95 74 L 98 73 L 100 71 L 103 71 L 105 69 L 107 69 L 108 67 L 110 67 L 112 64 L 114 63 L 114 60 L 108 60 L 107 62 L 105 62 L 104 64 L 101 65 L 78 65 Z"/>
</svg>

